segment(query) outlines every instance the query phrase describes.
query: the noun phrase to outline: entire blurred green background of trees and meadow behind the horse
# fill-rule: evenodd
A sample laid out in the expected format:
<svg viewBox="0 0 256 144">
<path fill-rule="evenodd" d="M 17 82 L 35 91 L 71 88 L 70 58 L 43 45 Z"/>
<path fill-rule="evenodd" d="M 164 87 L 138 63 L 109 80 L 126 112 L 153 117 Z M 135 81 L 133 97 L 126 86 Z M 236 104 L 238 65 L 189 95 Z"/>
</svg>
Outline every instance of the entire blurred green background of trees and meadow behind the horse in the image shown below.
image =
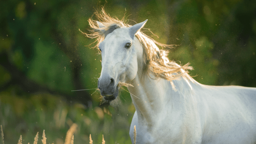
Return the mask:
<svg viewBox="0 0 256 144">
<path fill-rule="evenodd" d="M 101 56 L 88 45 L 88 19 L 105 5 L 130 25 L 148 19 L 170 60 L 191 63 L 206 85 L 256 87 L 256 2 L 248 0 L 0 0 L 0 124 L 6 144 L 62 144 L 72 123 L 74 143 L 131 143 L 135 111 L 121 90 L 115 106 L 100 106 Z M 150 34 L 150 33 L 147 33 Z M 126 88 L 124 88 L 126 89 Z M 127 90 L 127 89 L 126 89 Z M 41 140 L 39 140 L 41 141 Z M 1 142 L 0 142 L 1 143 Z M 41 142 L 38 142 L 41 143 Z"/>
</svg>

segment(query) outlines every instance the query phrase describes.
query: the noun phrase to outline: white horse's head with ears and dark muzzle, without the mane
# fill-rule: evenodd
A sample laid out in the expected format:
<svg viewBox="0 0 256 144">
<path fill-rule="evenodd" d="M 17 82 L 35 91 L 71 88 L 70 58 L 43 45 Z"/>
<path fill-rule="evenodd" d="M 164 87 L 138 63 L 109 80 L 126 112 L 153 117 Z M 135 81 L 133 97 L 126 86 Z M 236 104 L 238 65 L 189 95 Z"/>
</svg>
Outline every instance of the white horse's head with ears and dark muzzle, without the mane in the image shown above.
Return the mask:
<svg viewBox="0 0 256 144">
<path fill-rule="evenodd" d="M 119 82 L 129 82 L 136 77 L 138 64 L 143 62 L 143 48 L 135 34 L 146 21 L 131 27 L 117 28 L 99 44 L 102 69 L 98 89 L 105 100 L 112 101 L 118 96 Z M 97 24 L 104 27 L 101 22 Z"/>
</svg>

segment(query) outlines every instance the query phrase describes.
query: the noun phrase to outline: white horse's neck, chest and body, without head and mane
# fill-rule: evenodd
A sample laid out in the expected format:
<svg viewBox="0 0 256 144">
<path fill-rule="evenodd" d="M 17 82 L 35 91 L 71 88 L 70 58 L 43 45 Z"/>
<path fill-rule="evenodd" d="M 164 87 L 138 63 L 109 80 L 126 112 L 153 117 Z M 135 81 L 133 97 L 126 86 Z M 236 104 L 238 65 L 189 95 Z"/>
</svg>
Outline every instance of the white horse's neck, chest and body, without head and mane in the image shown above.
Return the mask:
<svg viewBox="0 0 256 144">
<path fill-rule="evenodd" d="M 128 87 L 136 108 L 130 127 L 132 142 L 134 126 L 138 144 L 255 142 L 255 88 L 207 86 L 181 78 L 174 80 L 174 90 L 167 80 L 143 80 L 145 84 L 132 82 L 134 87 Z M 152 97 L 158 100 L 150 103 Z"/>
</svg>

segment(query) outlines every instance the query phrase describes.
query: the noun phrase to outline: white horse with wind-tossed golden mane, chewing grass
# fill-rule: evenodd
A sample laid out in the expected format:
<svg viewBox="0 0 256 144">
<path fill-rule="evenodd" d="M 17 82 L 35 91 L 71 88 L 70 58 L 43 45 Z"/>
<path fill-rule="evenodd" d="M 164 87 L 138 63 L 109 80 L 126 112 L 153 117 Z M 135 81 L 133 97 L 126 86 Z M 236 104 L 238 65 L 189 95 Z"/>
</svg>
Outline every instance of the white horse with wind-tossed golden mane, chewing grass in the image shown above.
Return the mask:
<svg viewBox="0 0 256 144">
<path fill-rule="evenodd" d="M 253 144 L 256 142 L 256 88 L 208 86 L 187 74 L 190 66 L 170 62 L 160 44 L 104 11 L 89 20 L 102 55 L 98 89 L 114 100 L 129 85 L 135 113 L 130 126 L 137 144 Z M 84 33 L 85 34 L 85 33 Z M 156 43 L 156 44 L 155 44 Z"/>
</svg>

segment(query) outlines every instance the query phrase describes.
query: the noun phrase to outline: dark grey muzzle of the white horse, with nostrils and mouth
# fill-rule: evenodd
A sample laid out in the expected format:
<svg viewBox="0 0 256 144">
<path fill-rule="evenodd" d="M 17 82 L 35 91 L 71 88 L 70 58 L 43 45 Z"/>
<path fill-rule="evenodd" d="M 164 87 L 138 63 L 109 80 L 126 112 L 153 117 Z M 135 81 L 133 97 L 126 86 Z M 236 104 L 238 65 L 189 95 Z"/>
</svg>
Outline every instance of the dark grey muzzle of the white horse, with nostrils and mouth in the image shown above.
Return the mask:
<svg viewBox="0 0 256 144">
<path fill-rule="evenodd" d="M 114 79 L 109 75 L 103 75 L 98 79 L 98 89 L 107 101 L 112 101 L 118 96 L 118 87 L 115 86 Z"/>
</svg>

